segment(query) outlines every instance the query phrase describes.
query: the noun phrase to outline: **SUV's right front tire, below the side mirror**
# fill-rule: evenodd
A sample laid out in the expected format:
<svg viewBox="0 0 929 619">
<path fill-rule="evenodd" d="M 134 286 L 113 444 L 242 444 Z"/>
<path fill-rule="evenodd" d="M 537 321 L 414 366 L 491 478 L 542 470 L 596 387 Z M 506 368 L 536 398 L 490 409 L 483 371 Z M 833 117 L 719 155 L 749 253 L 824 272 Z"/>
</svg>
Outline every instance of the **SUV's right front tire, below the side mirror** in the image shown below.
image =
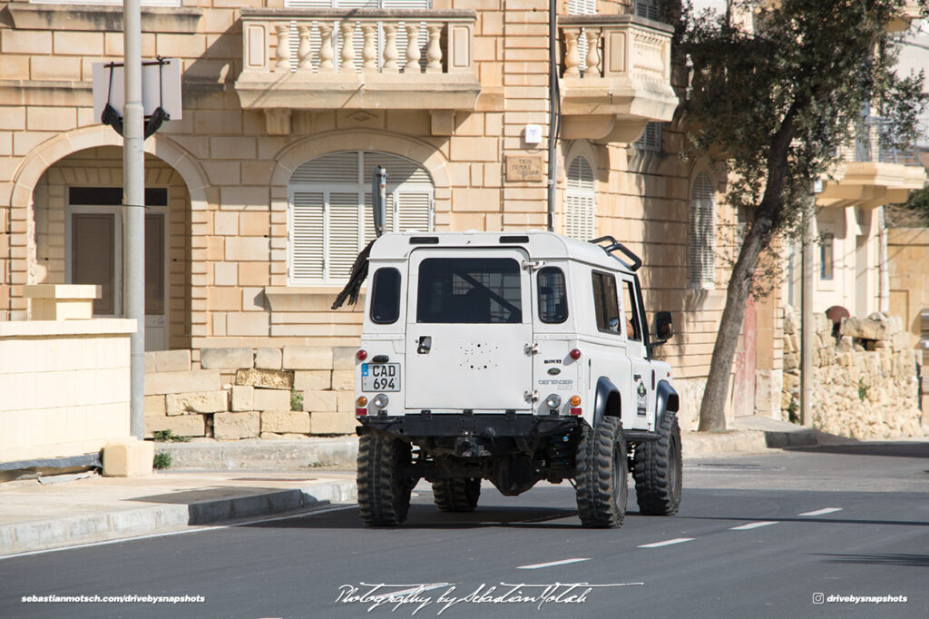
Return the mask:
<svg viewBox="0 0 929 619">
<path fill-rule="evenodd" d="M 673 516 L 681 506 L 681 428 L 677 415 L 661 415 L 658 441 L 635 448 L 633 478 L 639 511 L 646 516 Z"/>
</svg>

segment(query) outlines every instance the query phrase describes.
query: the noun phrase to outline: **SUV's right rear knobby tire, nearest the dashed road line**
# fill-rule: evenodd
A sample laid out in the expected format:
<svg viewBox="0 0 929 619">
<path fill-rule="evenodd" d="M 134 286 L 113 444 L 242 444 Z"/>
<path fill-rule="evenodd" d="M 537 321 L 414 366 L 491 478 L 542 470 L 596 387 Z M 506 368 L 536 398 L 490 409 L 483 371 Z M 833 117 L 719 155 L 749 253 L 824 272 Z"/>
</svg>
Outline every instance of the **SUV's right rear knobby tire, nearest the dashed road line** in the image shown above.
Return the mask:
<svg viewBox="0 0 929 619">
<path fill-rule="evenodd" d="M 626 441 L 619 417 L 604 417 L 596 428 L 583 426 L 577 452 L 577 502 L 588 529 L 622 525 L 629 492 Z"/>
</svg>

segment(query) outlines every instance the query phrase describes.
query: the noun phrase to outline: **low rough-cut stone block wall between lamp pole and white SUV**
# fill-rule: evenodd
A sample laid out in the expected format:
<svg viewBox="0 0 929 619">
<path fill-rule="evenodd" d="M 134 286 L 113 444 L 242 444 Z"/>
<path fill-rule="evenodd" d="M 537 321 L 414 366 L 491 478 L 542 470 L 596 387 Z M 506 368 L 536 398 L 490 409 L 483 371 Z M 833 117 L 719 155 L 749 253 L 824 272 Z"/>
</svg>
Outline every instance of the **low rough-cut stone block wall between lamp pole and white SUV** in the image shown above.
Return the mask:
<svg viewBox="0 0 929 619">
<path fill-rule="evenodd" d="M 295 439 L 355 432 L 356 347 L 146 353 L 145 436 Z M 298 408 L 299 410 L 292 410 Z"/>
</svg>

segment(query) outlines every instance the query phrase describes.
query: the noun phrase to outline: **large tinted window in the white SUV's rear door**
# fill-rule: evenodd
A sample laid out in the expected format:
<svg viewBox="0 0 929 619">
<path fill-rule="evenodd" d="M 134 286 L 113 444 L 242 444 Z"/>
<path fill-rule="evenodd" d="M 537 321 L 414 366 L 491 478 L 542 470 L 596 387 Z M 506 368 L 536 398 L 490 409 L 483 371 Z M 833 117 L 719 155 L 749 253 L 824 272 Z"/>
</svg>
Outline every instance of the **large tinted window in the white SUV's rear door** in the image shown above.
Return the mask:
<svg viewBox="0 0 929 619">
<path fill-rule="evenodd" d="M 426 258 L 419 265 L 417 323 L 522 323 L 513 258 Z"/>
</svg>

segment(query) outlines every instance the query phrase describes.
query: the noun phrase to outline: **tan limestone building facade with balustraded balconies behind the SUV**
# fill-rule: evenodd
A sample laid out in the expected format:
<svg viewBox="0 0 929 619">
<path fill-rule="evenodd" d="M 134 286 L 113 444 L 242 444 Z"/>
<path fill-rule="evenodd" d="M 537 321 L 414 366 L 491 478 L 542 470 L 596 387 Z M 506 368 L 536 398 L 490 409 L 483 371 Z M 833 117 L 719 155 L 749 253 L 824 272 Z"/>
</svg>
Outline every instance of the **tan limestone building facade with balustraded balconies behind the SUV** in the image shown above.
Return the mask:
<svg viewBox="0 0 929 619">
<path fill-rule="evenodd" d="M 337 360 L 361 315 L 329 306 L 373 236 L 373 165 L 391 175 L 395 230 L 548 223 L 548 3 L 159 4 L 143 2 L 142 54 L 180 59 L 183 115 L 145 142 L 149 429 L 210 435 L 216 415 L 252 413 L 218 418 L 249 435 L 350 429 Z M 725 169 L 678 156 L 687 75 L 657 3 L 561 1 L 558 13 L 554 228 L 612 235 L 644 258 L 649 313 L 674 314 L 658 354 L 692 428 L 746 221 L 723 204 Z M 94 117 L 91 74 L 122 58 L 121 8 L 14 0 L 0 18 L 0 320 L 29 318 L 30 283 L 101 284 L 96 315 L 118 316 L 122 139 Z M 779 415 L 781 295 L 746 312 L 729 416 Z M 257 390 L 283 388 L 248 384 L 246 370 L 308 381 L 317 395 L 301 412 L 326 424 L 266 430 L 266 416 L 284 428 L 266 415 L 283 400 L 260 394 L 260 408 Z M 236 388 L 255 389 L 248 410 Z M 170 398 L 181 392 L 215 395 Z M 181 425 L 188 414 L 203 416 Z"/>
</svg>

